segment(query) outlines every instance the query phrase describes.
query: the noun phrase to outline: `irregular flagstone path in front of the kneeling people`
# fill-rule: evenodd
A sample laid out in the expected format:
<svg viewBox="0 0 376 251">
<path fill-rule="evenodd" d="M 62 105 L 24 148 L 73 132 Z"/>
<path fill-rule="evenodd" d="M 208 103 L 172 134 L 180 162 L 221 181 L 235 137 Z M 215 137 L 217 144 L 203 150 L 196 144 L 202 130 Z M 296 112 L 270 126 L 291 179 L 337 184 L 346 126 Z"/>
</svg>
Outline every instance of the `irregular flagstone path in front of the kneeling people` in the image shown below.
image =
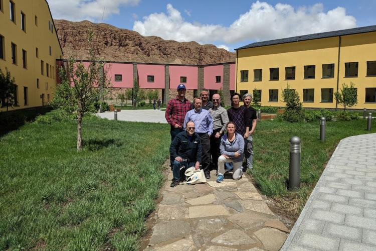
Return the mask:
<svg viewBox="0 0 376 251">
<path fill-rule="evenodd" d="M 206 184 L 162 188 L 145 250 L 279 250 L 289 230 L 243 175 Z"/>
</svg>

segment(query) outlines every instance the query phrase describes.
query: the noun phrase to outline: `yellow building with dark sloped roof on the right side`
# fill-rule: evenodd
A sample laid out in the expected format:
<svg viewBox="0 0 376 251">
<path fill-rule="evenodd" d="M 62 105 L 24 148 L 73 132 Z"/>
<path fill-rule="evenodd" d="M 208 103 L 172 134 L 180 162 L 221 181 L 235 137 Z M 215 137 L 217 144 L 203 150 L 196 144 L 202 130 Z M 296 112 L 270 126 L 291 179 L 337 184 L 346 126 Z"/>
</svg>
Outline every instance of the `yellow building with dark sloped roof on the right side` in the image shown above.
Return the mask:
<svg viewBox="0 0 376 251">
<path fill-rule="evenodd" d="M 289 85 L 304 107 L 341 108 L 333 93 L 352 82 L 352 108 L 376 109 L 376 26 L 257 42 L 236 53 L 236 90 L 258 89 L 262 105 L 284 106 Z"/>
</svg>

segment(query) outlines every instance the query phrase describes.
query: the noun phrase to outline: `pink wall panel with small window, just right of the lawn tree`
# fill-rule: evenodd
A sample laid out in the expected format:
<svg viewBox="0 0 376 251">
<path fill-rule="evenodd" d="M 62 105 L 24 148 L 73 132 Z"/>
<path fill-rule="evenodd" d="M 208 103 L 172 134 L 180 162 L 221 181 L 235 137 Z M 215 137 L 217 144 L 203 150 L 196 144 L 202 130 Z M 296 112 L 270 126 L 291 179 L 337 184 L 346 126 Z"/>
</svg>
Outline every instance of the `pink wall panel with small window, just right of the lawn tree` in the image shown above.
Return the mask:
<svg viewBox="0 0 376 251">
<path fill-rule="evenodd" d="M 104 70 L 107 72 L 107 77 L 111 80 L 112 87 L 133 87 L 133 64 L 109 63 L 105 64 Z M 115 81 L 115 74 L 121 74 L 121 81 Z"/>
</svg>

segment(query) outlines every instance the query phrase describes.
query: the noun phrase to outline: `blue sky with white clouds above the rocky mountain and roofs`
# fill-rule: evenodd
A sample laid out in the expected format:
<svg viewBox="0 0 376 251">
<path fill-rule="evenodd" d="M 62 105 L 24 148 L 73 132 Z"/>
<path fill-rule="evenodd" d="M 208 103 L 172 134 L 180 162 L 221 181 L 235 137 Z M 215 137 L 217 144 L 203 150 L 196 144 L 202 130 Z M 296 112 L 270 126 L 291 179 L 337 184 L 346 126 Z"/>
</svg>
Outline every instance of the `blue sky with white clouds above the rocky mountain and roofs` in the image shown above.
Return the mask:
<svg viewBox="0 0 376 251">
<path fill-rule="evenodd" d="M 376 25 L 376 0 L 146 1 L 48 0 L 55 19 L 90 20 L 144 36 L 215 44 L 230 51 L 255 41 Z"/>
</svg>

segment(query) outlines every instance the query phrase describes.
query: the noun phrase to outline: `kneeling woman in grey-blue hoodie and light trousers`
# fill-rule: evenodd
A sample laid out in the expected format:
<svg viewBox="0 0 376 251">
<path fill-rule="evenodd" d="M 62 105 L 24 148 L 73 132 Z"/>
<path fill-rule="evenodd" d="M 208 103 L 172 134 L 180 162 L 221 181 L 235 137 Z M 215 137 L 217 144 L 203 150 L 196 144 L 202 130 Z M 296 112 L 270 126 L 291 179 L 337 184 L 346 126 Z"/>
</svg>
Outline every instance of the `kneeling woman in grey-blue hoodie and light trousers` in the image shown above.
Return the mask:
<svg viewBox="0 0 376 251">
<path fill-rule="evenodd" d="M 227 123 L 227 134 L 222 136 L 220 150 L 221 156 L 218 158 L 218 178 L 217 182 L 222 182 L 225 177 L 225 162 L 233 163 L 234 172 L 233 179 L 239 180 L 242 175 L 244 138 L 242 135 L 235 133 L 235 123 L 230 121 Z"/>
</svg>

